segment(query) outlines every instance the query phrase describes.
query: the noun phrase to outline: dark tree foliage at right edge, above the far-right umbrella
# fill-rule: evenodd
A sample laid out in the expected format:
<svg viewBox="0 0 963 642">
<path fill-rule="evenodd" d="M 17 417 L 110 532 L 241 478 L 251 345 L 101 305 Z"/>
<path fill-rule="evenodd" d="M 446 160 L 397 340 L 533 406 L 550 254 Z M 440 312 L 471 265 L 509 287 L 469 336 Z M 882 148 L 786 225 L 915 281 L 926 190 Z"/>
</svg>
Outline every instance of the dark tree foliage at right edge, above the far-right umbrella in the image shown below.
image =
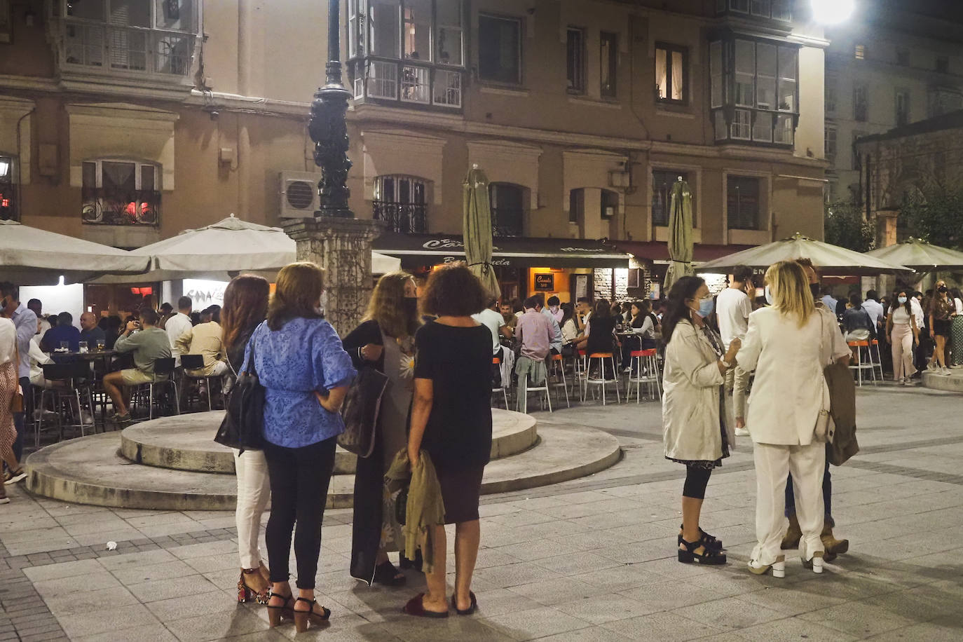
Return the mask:
<svg viewBox="0 0 963 642">
<path fill-rule="evenodd" d="M 963 190 L 931 187 L 914 191 L 899 210 L 907 231 L 934 245 L 963 249 Z"/>
</svg>

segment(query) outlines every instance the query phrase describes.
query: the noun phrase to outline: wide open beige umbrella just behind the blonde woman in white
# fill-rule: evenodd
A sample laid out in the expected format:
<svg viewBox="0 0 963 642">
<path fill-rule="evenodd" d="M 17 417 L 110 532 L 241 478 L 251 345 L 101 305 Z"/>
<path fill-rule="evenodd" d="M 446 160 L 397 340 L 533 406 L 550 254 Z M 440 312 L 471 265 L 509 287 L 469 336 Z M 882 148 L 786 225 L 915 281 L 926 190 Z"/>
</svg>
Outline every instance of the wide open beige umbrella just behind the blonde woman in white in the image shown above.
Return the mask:
<svg viewBox="0 0 963 642">
<path fill-rule="evenodd" d="M 699 271 L 726 272 L 736 266 L 765 269 L 779 261 L 794 261 L 801 258 L 808 258 L 814 266 L 830 274 L 872 276 L 913 271 L 905 266 L 860 254 L 846 247 L 814 241 L 798 232 L 782 241 L 750 247 L 703 263 L 699 266 Z"/>
</svg>

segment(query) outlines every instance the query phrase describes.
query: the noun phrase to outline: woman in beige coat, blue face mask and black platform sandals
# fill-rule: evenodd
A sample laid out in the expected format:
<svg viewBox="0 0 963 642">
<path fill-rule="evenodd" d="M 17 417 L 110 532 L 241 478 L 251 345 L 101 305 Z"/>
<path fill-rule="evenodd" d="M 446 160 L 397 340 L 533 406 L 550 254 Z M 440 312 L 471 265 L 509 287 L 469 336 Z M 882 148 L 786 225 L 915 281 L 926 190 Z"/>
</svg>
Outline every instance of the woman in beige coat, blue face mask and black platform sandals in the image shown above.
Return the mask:
<svg viewBox="0 0 963 642">
<path fill-rule="evenodd" d="M 704 320 L 713 312 L 706 282 L 683 276 L 668 294 L 663 316 L 665 458 L 686 466 L 682 492 L 680 562 L 725 564 L 722 542 L 699 527 L 699 513 L 713 469 L 729 456 L 736 438 L 724 407 L 725 373 L 736 366 L 741 342 L 723 354 L 722 340 Z"/>
</svg>

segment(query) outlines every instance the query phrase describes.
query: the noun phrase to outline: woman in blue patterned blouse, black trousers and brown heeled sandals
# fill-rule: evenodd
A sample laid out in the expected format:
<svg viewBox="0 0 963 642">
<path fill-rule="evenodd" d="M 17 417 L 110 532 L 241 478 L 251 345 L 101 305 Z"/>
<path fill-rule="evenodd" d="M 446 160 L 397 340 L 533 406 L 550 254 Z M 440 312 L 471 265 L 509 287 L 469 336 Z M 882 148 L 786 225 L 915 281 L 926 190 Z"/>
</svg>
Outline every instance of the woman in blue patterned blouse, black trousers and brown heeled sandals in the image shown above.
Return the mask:
<svg viewBox="0 0 963 642">
<path fill-rule="evenodd" d="M 354 378 L 351 357 L 320 310 L 324 271 L 293 263 L 277 275 L 268 319 L 247 344 L 265 388 L 264 455 L 271 477 L 268 561 L 271 626 L 293 618 L 299 631 L 331 612 L 314 599 L 321 524 L 334 470 L 335 438 L 345 429 L 338 411 Z M 297 524 L 297 526 L 295 526 Z M 288 583 L 294 530 L 299 596 Z"/>
</svg>

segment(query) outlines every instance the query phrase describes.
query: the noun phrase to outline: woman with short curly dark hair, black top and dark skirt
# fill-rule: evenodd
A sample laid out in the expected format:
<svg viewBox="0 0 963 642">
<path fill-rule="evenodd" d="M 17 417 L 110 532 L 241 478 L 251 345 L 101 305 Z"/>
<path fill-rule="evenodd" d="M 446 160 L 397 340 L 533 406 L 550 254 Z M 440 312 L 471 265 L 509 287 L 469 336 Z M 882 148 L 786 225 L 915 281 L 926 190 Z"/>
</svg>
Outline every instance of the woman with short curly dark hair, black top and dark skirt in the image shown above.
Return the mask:
<svg viewBox="0 0 963 642">
<path fill-rule="evenodd" d="M 481 475 L 491 452 L 491 332 L 472 319 L 488 295 L 463 265 L 434 270 L 422 309 L 437 319 L 415 334 L 415 395 L 408 435 L 408 459 L 422 451 L 434 464 L 445 503 L 445 523 L 455 524 L 455 595 L 459 612 L 475 609 L 472 573 L 478 556 Z M 445 597 L 445 527 L 434 526 L 434 568 L 428 592 L 405 612 L 435 617 L 448 613 Z"/>
</svg>

